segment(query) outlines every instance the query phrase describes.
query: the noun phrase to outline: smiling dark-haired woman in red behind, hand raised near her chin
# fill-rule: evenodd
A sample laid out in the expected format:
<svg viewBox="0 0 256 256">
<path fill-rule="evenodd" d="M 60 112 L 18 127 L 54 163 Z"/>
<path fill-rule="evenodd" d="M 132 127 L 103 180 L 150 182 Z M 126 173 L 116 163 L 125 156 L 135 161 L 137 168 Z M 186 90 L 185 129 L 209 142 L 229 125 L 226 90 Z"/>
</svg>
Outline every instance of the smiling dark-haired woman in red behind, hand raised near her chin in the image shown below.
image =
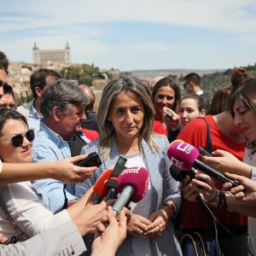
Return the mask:
<svg viewBox="0 0 256 256">
<path fill-rule="evenodd" d="M 177 110 L 181 99 L 179 86 L 172 79 L 160 79 L 152 91 L 155 116 L 153 130 L 168 136 L 169 142 L 174 140 L 181 130 Z M 168 115 L 168 113 L 171 113 Z"/>
</svg>

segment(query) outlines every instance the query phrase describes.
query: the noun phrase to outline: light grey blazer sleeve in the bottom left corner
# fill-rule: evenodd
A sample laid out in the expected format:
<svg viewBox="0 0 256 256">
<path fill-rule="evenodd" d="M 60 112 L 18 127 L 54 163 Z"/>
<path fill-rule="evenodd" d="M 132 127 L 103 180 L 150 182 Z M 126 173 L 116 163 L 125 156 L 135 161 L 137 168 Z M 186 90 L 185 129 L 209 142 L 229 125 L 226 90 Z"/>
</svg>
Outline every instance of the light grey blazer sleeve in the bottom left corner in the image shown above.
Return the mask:
<svg viewBox="0 0 256 256">
<path fill-rule="evenodd" d="M 0 246 L 1 256 L 78 256 L 86 251 L 84 241 L 73 222 L 67 222 L 32 238 Z"/>
</svg>

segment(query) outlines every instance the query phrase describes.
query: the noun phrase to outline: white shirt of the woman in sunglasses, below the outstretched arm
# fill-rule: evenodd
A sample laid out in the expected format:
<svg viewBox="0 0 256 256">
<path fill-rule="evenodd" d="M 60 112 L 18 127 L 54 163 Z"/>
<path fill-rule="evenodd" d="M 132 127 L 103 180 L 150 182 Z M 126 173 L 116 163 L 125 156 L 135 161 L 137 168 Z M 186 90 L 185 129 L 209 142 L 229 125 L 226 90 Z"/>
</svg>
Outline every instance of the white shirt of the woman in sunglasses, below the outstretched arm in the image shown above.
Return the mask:
<svg viewBox="0 0 256 256">
<path fill-rule="evenodd" d="M 54 215 L 44 207 L 30 182 L 0 185 L 0 193 L 9 215 L 27 237 L 35 236 L 71 220 L 66 210 Z M 21 233 L 15 230 L 2 208 L 0 209 L 0 232 L 7 237 Z"/>
</svg>

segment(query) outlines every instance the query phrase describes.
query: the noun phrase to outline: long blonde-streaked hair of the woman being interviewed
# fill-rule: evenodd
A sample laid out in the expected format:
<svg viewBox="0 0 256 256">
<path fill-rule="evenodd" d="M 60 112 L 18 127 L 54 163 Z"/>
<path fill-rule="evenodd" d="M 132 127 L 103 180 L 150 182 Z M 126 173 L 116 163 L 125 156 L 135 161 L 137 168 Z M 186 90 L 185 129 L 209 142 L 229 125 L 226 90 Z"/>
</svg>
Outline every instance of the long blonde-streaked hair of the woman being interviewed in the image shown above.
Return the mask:
<svg viewBox="0 0 256 256">
<path fill-rule="evenodd" d="M 115 139 L 115 131 L 113 124 L 108 120 L 109 109 L 111 108 L 114 99 L 121 92 L 135 93 L 142 99 L 144 108 L 143 126 L 139 133 L 139 149 L 142 152 L 143 139 L 148 143 L 149 147 L 154 151 L 158 151 L 158 146 L 152 139 L 153 135 L 153 121 L 154 121 L 154 105 L 148 96 L 143 84 L 129 76 L 120 76 L 118 79 L 110 81 L 102 92 L 102 100 L 99 104 L 97 113 L 97 123 L 101 133 L 100 139 L 100 154 L 103 159 L 109 156 L 110 147 Z"/>
</svg>

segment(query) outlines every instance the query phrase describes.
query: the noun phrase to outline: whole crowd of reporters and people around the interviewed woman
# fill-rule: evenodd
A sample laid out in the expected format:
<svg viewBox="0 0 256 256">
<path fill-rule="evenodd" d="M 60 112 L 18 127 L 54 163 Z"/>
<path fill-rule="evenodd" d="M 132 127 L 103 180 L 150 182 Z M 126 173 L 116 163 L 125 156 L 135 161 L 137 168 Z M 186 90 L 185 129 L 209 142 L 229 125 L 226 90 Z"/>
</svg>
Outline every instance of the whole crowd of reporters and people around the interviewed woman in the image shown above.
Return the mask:
<svg viewBox="0 0 256 256">
<path fill-rule="evenodd" d="M 1 255 L 256 254 L 256 78 L 246 70 L 212 99 L 197 73 L 184 77 L 183 94 L 170 78 L 120 76 L 95 113 L 90 86 L 49 69 L 32 73 L 33 99 L 17 106 L 8 66 L 0 52 Z M 207 149 L 201 160 L 238 185 L 194 168 L 179 183 L 167 156 L 176 141 Z M 101 166 L 76 165 L 92 152 Z M 114 200 L 91 201 L 120 155 L 148 183 L 116 216 Z M 183 239 L 195 234 L 205 254 Z"/>
</svg>

